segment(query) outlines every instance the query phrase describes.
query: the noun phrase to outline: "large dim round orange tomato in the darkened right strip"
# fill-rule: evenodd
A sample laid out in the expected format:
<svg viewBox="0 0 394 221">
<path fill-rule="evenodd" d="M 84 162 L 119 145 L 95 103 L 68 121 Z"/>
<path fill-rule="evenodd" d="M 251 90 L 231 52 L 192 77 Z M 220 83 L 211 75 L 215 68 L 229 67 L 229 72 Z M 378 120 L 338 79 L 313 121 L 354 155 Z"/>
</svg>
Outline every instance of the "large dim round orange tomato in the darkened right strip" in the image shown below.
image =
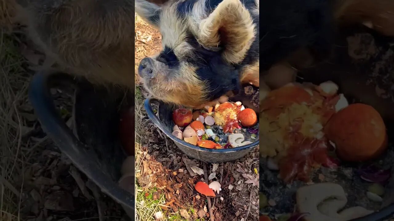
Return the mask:
<svg viewBox="0 0 394 221">
<path fill-rule="evenodd" d="M 362 103 L 351 104 L 334 114 L 325 133 L 335 143 L 338 157 L 347 161 L 370 160 L 387 148 L 383 119 L 377 110 Z"/>
</svg>

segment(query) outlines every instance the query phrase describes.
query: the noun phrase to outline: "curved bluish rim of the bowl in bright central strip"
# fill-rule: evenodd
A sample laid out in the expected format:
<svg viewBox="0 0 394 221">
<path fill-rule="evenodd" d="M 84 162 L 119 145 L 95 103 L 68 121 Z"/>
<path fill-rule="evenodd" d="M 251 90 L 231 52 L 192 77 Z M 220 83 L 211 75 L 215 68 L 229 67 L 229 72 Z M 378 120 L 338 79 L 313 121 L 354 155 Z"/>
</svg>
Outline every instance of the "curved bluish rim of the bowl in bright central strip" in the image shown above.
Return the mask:
<svg viewBox="0 0 394 221">
<path fill-rule="evenodd" d="M 185 142 L 183 140 L 180 140 L 179 138 L 177 138 L 176 136 L 174 136 L 172 133 L 169 133 L 168 129 L 166 129 L 162 124 L 162 122 L 159 120 L 159 118 L 156 116 L 156 114 L 153 112 L 152 106 L 151 106 L 151 102 L 152 101 L 158 101 L 157 99 L 154 98 L 147 98 L 145 99 L 144 102 L 144 107 L 145 110 L 149 116 L 149 118 L 152 120 L 152 122 L 156 125 L 156 127 L 158 127 L 161 131 L 163 131 L 165 133 L 165 135 L 167 135 L 169 138 L 171 138 L 171 140 L 173 140 L 174 142 L 180 143 L 184 146 L 187 146 L 191 149 L 195 149 L 198 151 L 204 151 L 204 152 L 210 152 L 210 153 L 231 153 L 231 152 L 237 152 L 237 151 L 242 151 L 245 149 L 250 149 L 251 147 L 255 147 L 260 143 L 260 140 L 256 140 L 255 142 L 251 143 L 251 144 L 247 144 L 241 147 L 234 147 L 234 148 L 227 148 L 227 149 L 208 149 L 208 148 L 203 148 L 203 147 L 199 147 L 199 146 L 195 146 L 192 144 L 189 144 L 188 142 Z"/>
</svg>

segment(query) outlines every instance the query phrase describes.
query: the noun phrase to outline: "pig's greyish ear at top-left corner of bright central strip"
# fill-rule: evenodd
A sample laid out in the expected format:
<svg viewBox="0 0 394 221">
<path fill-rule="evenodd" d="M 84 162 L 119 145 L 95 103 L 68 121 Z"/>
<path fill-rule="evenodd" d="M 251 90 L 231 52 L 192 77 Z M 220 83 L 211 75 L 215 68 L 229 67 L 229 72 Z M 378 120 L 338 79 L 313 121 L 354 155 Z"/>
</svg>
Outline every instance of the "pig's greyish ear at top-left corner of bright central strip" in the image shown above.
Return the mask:
<svg viewBox="0 0 394 221">
<path fill-rule="evenodd" d="M 136 0 L 136 13 L 149 24 L 158 26 L 160 21 L 160 7 L 154 3 L 145 0 Z"/>
</svg>

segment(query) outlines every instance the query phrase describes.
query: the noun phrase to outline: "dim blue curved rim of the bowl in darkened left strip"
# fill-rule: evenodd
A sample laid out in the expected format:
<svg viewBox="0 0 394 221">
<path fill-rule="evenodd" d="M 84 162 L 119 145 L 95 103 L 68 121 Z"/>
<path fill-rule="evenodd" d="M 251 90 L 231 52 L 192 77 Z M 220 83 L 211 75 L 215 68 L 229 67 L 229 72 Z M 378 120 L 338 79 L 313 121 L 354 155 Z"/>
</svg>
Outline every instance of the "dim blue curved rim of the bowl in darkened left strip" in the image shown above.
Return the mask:
<svg viewBox="0 0 394 221">
<path fill-rule="evenodd" d="M 50 96 L 50 88 L 64 83 L 78 86 L 78 82 L 67 74 L 38 72 L 34 75 L 29 87 L 29 100 L 41 127 L 60 147 L 61 151 L 74 162 L 75 166 L 84 171 L 86 176 L 93 180 L 104 193 L 134 212 L 134 197 L 121 189 L 115 182 L 108 182 L 112 179 L 99 170 L 99 166 L 94 160 L 89 160 L 92 157 L 86 151 L 85 145 L 76 138 L 64 120 L 61 119 L 59 111 L 56 110 Z"/>
</svg>

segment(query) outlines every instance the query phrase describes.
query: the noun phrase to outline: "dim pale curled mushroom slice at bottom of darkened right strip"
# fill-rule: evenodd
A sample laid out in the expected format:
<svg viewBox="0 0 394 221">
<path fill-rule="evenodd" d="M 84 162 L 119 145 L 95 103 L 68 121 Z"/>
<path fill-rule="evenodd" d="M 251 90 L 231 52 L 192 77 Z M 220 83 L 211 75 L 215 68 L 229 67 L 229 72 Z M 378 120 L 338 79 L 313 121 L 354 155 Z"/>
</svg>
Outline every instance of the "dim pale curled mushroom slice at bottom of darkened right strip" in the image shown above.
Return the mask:
<svg viewBox="0 0 394 221">
<path fill-rule="evenodd" d="M 310 213 L 304 217 L 305 221 L 348 221 L 374 212 L 355 206 L 338 213 L 348 199 L 342 186 L 329 182 L 299 188 L 296 200 L 299 212 Z"/>
</svg>

